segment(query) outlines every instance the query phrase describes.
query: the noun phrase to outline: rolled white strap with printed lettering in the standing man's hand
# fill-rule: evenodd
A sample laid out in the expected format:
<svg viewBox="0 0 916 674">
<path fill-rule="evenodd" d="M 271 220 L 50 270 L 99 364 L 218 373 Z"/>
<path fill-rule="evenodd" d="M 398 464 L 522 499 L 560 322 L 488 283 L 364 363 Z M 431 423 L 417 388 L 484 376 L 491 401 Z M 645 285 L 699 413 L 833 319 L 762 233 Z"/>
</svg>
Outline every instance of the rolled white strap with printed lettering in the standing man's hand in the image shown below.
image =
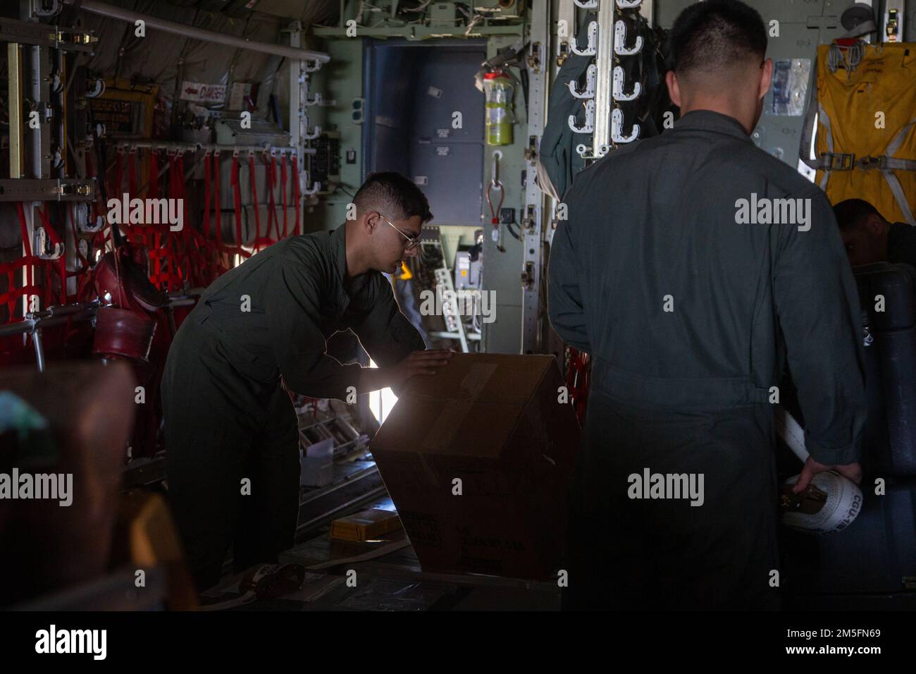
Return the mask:
<svg viewBox="0 0 916 674">
<path fill-rule="evenodd" d="M 817 473 L 808 488 L 791 492 L 799 476 L 785 481 L 780 493 L 782 524 L 806 534 L 835 534 L 851 525 L 862 510 L 862 490 L 834 470 Z"/>
</svg>

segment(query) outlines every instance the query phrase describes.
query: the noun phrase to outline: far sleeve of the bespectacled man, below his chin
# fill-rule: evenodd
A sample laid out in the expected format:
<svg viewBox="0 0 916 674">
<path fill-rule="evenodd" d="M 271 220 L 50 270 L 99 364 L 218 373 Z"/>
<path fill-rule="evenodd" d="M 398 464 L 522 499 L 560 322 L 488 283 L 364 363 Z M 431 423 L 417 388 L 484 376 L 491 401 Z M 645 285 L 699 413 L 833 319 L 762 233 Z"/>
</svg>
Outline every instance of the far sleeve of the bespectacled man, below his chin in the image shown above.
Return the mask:
<svg viewBox="0 0 916 674">
<path fill-rule="evenodd" d="M 369 312 L 353 330 L 379 367 L 395 365 L 411 351 L 426 349 L 423 337 L 407 316 L 401 314 L 391 283 L 381 274 L 373 280 Z"/>
</svg>

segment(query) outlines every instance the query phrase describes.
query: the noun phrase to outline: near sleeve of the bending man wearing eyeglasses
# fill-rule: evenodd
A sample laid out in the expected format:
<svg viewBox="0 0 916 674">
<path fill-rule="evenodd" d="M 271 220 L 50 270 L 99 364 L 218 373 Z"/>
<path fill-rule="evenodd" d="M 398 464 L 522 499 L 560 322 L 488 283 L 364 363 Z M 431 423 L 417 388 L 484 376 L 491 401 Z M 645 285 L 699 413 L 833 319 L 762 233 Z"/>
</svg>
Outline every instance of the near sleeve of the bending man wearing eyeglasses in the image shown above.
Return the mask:
<svg viewBox="0 0 916 674">
<path fill-rule="evenodd" d="M 362 366 L 341 365 L 325 353 L 327 343 L 317 323 L 322 290 L 316 269 L 317 264 L 279 259 L 267 282 L 267 325 L 280 374 L 290 390 L 346 400 L 347 388 L 359 384 Z"/>
</svg>

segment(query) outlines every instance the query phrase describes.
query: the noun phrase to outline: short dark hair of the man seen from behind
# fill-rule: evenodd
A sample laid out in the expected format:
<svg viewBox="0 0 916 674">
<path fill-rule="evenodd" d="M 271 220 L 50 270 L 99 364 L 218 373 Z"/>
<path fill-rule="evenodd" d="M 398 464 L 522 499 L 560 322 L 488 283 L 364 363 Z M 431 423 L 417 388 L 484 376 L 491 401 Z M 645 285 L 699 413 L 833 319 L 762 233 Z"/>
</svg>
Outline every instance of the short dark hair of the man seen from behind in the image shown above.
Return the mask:
<svg viewBox="0 0 916 674">
<path fill-rule="evenodd" d="M 668 36 L 671 70 L 725 70 L 751 55 L 767 55 L 767 28 L 758 11 L 739 0 L 706 0 L 684 9 Z"/>
</svg>

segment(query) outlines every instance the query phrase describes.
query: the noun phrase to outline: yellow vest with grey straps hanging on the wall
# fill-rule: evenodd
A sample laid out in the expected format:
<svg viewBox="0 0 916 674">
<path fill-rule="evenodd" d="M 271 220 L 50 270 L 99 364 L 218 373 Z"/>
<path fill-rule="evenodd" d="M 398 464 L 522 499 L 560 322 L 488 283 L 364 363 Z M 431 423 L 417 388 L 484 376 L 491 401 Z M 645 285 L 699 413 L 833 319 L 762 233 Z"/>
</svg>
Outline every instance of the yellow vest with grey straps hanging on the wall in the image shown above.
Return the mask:
<svg viewBox="0 0 916 674">
<path fill-rule="evenodd" d="M 865 199 L 916 225 L 916 43 L 831 47 L 817 48 L 815 180 L 832 204 Z"/>
</svg>

